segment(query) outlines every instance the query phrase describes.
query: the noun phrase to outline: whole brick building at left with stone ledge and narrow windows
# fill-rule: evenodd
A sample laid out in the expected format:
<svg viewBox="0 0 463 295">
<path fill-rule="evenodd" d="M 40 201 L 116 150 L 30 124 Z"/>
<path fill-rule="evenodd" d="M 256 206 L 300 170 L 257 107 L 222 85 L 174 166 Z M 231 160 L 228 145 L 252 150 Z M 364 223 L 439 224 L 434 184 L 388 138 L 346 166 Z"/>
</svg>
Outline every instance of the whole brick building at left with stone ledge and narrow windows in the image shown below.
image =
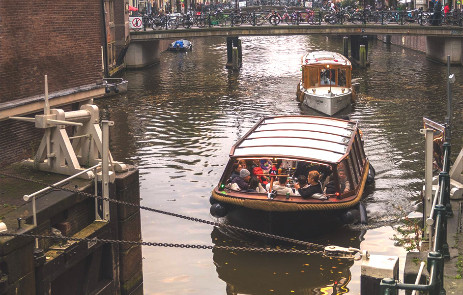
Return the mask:
<svg viewBox="0 0 463 295">
<path fill-rule="evenodd" d="M 51 108 L 77 110 L 104 94 L 102 78 L 124 67 L 128 1 L 2 0 L 0 34 L 3 167 L 32 157 L 40 143 L 42 130 L 8 117 L 43 112 L 44 75 Z"/>
</svg>

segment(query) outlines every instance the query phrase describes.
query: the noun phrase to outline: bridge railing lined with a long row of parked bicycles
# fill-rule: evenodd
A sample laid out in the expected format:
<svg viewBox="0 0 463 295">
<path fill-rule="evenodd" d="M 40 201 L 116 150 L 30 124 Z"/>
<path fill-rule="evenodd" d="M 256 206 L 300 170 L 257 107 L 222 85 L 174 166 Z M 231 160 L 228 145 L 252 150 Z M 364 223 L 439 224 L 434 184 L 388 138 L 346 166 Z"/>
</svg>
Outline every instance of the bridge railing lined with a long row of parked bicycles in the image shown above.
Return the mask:
<svg viewBox="0 0 463 295">
<path fill-rule="evenodd" d="M 159 25 L 161 20 L 174 19 L 177 25 Z M 153 25 L 154 23 L 154 25 Z M 326 10 L 267 10 L 267 11 L 219 11 L 199 15 L 143 15 L 144 29 L 177 28 L 212 28 L 262 25 L 414 25 L 414 26 L 448 26 L 463 27 L 461 12 L 442 14 L 440 18 L 426 11 L 391 11 L 391 10 L 343 10 L 339 12 Z M 139 29 L 135 29 L 139 30 Z"/>
</svg>

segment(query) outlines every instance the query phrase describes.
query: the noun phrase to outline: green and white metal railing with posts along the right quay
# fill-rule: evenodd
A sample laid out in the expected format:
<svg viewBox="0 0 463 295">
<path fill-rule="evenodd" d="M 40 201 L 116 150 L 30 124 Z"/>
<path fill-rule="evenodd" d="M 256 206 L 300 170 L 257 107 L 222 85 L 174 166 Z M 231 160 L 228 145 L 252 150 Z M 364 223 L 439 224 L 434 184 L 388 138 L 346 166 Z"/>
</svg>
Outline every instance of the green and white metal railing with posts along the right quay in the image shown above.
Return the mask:
<svg viewBox="0 0 463 295">
<path fill-rule="evenodd" d="M 423 201 L 423 220 L 426 220 L 424 238 L 429 241 L 429 253 L 427 270 L 429 273 L 428 284 L 419 285 L 421 273 L 424 268 L 420 266 L 415 284 L 401 284 L 392 278 L 384 278 L 380 283 L 380 294 L 396 294 L 397 290 L 427 291 L 429 295 L 445 294 L 444 289 L 444 259 L 450 258 L 449 245 L 447 243 L 447 217 L 453 216 L 450 204 L 450 128 L 452 118 L 451 108 L 451 84 L 455 81 L 450 74 L 450 56 L 447 56 L 448 67 L 448 108 L 444 126 L 427 118 L 423 118 L 426 128 L 420 130 L 426 135 L 425 149 L 425 195 Z M 440 136 L 434 137 L 434 131 L 440 132 Z M 439 173 L 434 198 L 432 197 L 432 171 L 433 171 L 433 146 L 434 140 L 442 140 L 442 171 Z M 423 224 L 424 226 L 424 224 Z M 415 293 L 415 292 L 414 292 Z"/>
</svg>

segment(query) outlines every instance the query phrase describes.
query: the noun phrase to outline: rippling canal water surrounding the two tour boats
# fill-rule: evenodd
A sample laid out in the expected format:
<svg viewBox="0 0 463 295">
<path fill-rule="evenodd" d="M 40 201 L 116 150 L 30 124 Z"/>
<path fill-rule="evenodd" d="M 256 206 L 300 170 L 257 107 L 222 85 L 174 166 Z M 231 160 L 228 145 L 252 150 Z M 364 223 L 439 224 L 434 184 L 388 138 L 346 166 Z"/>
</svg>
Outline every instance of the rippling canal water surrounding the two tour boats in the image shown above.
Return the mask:
<svg viewBox="0 0 463 295">
<path fill-rule="evenodd" d="M 216 221 L 209 196 L 231 146 L 261 116 L 318 115 L 295 100 L 300 58 L 309 51 L 342 52 L 342 37 L 246 37 L 243 66 L 225 69 L 224 38 L 193 40 L 188 53 L 163 53 L 161 62 L 128 71 L 129 90 L 100 99 L 101 119 L 112 120 L 116 160 L 138 166 L 141 204 Z M 399 256 L 391 226 L 420 216 L 424 177 L 422 118 L 443 122 L 447 67 L 416 51 L 370 40 L 365 69 L 353 68 L 357 101 L 337 117 L 360 121 L 365 150 L 376 169 L 363 203 L 368 227 L 322 237 L 323 245 Z M 463 69 L 453 67 L 453 159 L 463 141 Z M 259 245 L 209 225 L 141 211 L 144 241 Z M 320 225 L 322 226 L 322 225 Z M 145 294 L 359 294 L 360 262 L 318 255 L 265 254 L 164 247 L 143 248 Z"/>
</svg>

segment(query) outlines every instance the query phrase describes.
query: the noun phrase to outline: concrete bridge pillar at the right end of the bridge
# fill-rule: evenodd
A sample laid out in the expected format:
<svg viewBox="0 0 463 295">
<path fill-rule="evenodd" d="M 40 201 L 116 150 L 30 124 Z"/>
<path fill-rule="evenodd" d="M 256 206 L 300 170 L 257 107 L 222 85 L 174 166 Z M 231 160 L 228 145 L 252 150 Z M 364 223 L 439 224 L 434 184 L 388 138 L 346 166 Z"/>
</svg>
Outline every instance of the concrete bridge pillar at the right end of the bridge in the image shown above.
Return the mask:
<svg viewBox="0 0 463 295">
<path fill-rule="evenodd" d="M 459 37 L 426 37 L 426 58 L 447 64 L 450 56 L 451 64 L 463 65 L 463 38 Z"/>
</svg>

